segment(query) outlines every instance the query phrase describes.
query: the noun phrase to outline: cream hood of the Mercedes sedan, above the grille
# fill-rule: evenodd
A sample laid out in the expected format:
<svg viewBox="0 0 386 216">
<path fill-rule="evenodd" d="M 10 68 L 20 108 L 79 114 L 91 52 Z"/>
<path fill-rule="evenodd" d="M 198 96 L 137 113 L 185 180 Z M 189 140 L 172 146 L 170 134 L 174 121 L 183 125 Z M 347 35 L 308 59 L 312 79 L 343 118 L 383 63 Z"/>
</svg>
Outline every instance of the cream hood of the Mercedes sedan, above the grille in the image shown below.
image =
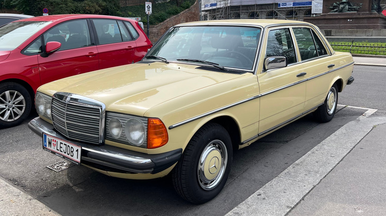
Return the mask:
<svg viewBox="0 0 386 216">
<path fill-rule="evenodd" d="M 79 94 L 100 101 L 109 111 L 143 116 L 161 103 L 240 74 L 196 69 L 196 65 L 136 63 L 84 73 L 54 82 L 38 91 Z"/>
</svg>

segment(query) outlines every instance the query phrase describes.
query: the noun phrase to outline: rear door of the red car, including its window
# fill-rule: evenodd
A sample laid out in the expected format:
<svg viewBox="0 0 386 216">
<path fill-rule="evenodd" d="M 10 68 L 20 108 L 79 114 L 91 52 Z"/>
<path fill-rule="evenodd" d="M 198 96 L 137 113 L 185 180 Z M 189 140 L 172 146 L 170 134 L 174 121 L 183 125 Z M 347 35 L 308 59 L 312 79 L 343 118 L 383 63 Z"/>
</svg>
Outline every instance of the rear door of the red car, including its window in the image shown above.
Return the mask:
<svg viewBox="0 0 386 216">
<path fill-rule="evenodd" d="M 122 21 L 93 19 L 93 24 L 97 33 L 100 69 L 127 65 L 135 61 L 137 44 Z"/>
</svg>

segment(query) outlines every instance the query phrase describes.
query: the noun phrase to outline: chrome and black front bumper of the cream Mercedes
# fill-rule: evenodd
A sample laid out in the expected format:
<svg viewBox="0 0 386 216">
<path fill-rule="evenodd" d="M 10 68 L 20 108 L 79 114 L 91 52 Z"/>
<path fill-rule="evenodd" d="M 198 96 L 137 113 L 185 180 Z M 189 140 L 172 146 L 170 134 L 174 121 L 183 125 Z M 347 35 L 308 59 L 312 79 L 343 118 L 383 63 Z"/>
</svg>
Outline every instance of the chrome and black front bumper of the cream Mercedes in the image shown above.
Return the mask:
<svg viewBox="0 0 386 216">
<path fill-rule="evenodd" d="M 42 137 L 45 133 L 82 146 L 81 163 L 104 171 L 156 174 L 175 164 L 182 154 L 181 148 L 161 154 L 145 154 L 111 145 L 79 143 L 57 133 L 53 125 L 40 117 L 32 119 L 28 127 Z"/>
</svg>

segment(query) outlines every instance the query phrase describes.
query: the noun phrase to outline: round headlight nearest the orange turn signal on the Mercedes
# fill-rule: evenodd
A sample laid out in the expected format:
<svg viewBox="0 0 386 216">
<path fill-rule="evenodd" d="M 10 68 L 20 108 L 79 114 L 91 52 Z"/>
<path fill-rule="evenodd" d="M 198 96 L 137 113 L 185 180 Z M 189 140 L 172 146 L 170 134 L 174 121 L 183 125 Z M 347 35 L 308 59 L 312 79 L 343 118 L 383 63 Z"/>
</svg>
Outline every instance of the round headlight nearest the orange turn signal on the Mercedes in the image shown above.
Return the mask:
<svg viewBox="0 0 386 216">
<path fill-rule="evenodd" d="M 140 146 L 145 141 L 145 127 L 141 121 L 131 118 L 126 121 L 125 137 L 131 144 Z"/>
</svg>

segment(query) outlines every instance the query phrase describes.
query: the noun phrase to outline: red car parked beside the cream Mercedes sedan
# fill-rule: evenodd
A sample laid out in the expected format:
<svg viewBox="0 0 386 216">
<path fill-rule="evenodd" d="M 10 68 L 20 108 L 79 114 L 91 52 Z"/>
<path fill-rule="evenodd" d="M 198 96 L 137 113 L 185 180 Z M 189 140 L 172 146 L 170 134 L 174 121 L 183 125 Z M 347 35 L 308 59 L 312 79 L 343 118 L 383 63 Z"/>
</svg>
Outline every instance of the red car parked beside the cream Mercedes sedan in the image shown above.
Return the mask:
<svg viewBox="0 0 386 216">
<path fill-rule="evenodd" d="M 0 128 L 29 115 L 40 85 L 138 62 L 151 46 L 138 22 L 122 17 L 50 15 L 0 27 Z"/>
</svg>

